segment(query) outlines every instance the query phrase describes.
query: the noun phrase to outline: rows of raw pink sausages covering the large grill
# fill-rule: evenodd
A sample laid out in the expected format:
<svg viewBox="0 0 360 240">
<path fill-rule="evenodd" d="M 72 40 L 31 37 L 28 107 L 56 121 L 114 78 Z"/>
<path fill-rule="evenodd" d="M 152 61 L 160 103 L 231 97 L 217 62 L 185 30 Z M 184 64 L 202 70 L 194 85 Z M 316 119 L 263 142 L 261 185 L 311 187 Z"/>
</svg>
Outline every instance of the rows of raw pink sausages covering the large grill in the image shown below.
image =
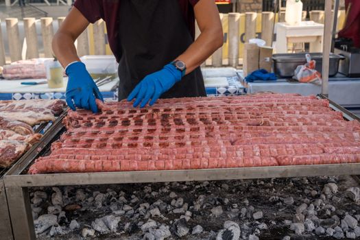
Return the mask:
<svg viewBox="0 0 360 240">
<path fill-rule="evenodd" d="M 214 169 L 360 163 L 360 123 L 295 94 L 160 99 L 148 108 L 98 102 L 29 173 Z"/>
</svg>

